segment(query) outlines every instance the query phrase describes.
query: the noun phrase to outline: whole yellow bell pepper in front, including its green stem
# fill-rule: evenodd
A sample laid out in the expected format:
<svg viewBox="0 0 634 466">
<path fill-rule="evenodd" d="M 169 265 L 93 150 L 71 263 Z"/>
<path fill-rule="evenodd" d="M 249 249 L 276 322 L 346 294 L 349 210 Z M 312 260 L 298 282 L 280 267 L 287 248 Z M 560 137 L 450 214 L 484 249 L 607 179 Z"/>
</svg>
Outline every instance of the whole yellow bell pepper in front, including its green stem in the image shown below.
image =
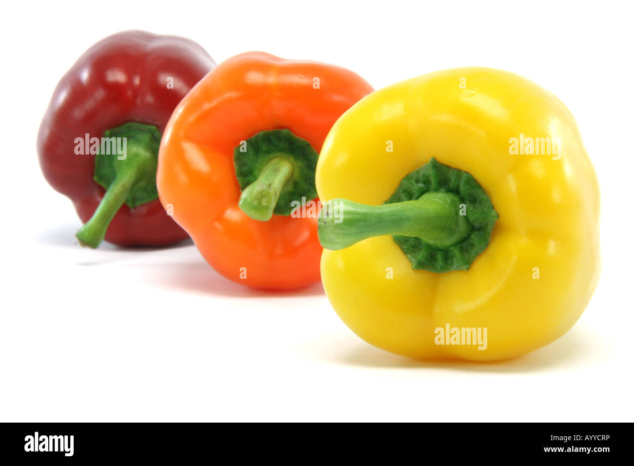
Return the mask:
<svg viewBox="0 0 634 466">
<path fill-rule="evenodd" d="M 456 68 L 376 91 L 333 126 L 316 187 L 328 299 L 391 353 L 529 353 L 597 284 L 592 162 L 571 112 L 518 75 Z"/>
</svg>

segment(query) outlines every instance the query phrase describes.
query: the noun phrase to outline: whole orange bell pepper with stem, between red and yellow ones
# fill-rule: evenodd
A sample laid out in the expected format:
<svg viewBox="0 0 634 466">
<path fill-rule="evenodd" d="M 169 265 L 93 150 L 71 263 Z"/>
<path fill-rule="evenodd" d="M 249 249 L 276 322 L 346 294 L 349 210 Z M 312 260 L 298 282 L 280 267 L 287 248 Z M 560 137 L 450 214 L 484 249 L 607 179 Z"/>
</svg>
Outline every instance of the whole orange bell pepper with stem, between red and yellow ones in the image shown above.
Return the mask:
<svg viewBox="0 0 634 466">
<path fill-rule="evenodd" d="M 216 271 L 256 288 L 320 280 L 318 150 L 372 90 L 344 68 L 261 52 L 224 61 L 191 89 L 161 141 L 157 184 Z"/>
</svg>

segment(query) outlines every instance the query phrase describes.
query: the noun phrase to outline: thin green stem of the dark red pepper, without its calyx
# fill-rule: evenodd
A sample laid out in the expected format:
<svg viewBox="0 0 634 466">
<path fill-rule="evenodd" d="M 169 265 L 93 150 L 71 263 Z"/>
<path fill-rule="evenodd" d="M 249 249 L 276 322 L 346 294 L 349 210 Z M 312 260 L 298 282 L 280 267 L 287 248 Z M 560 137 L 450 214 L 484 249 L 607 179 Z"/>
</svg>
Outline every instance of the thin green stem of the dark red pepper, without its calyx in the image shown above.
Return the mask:
<svg viewBox="0 0 634 466">
<path fill-rule="evenodd" d="M 126 169 L 117 174 L 91 219 L 75 235 L 82 246 L 94 249 L 100 245 L 106 235 L 108 225 L 126 202 L 130 191 L 146 170 L 145 160 L 138 159 L 137 163 L 127 164 Z"/>
</svg>

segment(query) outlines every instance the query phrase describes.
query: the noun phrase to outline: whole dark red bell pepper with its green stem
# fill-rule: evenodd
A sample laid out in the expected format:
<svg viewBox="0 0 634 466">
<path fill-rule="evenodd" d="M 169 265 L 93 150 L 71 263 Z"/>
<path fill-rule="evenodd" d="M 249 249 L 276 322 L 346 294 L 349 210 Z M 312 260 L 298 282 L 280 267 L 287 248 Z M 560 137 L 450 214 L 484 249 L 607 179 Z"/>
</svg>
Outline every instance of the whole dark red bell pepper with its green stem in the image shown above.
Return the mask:
<svg viewBox="0 0 634 466">
<path fill-rule="evenodd" d="M 97 42 L 61 78 L 37 152 L 48 183 L 86 223 L 81 245 L 187 238 L 158 200 L 159 143 L 172 110 L 214 66 L 193 41 L 133 30 Z"/>
</svg>

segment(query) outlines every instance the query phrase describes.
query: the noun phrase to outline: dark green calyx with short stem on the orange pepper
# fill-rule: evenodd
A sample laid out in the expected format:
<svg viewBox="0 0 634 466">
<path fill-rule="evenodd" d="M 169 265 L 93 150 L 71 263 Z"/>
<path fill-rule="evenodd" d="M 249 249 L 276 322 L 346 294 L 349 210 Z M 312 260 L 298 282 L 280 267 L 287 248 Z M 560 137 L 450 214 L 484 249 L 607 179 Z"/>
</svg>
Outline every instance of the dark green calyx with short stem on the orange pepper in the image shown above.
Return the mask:
<svg viewBox="0 0 634 466">
<path fill-rule="evenodd" d="M 306 139 L 288 129 L 261 131 L 233 150 L 242 195 L 238 206 L 249 217 L 268 221 L 317 197 L 315 170 L 319 154 Z"/>
</svg>

